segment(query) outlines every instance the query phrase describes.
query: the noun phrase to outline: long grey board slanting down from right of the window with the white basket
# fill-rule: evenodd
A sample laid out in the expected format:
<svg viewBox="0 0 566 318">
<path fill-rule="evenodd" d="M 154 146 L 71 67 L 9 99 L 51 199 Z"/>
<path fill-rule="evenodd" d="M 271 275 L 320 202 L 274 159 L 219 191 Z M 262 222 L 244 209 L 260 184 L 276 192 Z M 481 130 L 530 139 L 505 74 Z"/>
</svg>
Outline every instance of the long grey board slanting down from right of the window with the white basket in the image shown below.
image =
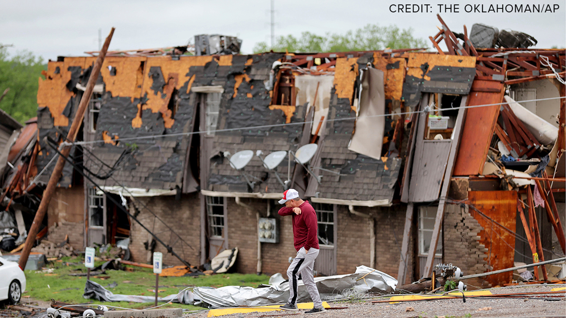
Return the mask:
<svg viewBox="0 0 566 318">
<path fill-rule="evenodd" d="M 467 101 L 468 96 L 462 97 L 460 106 L 466 105 Z M 436 218 L 434 221 L 434 228 L 432 229 L 432 238 L 430 248 L 428 249 L 426 265 L 424 265 L 423 276 L 428 276 L 432 270 L 432 266 L 434 265 L 434 254 L 436 252 L 436 246 L 438 245 L 438 238 L 440 236 L 440 226 L 442 225 L 442 220 L 444 218 L 444 206 L 446 204 L 450 180 L 453 175 L 454 161 L 456 159 L 456 154 L 458 153 L 458 147 L 460 146 L 462 128 L 464 128 L 464 121 L 468 116 L 468 111 L 469 109 L 461 109 L 458 111 L 458 117 L 456 117 L 456 123 L 454 124 L 454 139 L 451 143 L 450 154 L 448 155 L 448 164 L 446 166 L 446 171 L 444 172 L 440 201 L 438 203 L 438 210 L 436 210 Z"/>
</svg>

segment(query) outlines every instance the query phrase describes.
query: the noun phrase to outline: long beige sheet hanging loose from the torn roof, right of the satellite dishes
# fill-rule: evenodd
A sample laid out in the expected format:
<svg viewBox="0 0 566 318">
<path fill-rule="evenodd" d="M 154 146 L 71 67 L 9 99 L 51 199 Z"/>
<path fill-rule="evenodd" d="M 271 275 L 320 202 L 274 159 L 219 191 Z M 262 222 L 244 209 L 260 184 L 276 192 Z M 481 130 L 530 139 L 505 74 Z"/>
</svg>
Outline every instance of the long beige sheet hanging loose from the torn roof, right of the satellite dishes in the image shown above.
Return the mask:
<svg viewBox="0 0 566 318">
<path fill-rule="evenodd" d="M 383 71 L 370 67 L 360 72 L 359 105 L 348 150 L 380 159 L 385 128 Z"/>
</svg>

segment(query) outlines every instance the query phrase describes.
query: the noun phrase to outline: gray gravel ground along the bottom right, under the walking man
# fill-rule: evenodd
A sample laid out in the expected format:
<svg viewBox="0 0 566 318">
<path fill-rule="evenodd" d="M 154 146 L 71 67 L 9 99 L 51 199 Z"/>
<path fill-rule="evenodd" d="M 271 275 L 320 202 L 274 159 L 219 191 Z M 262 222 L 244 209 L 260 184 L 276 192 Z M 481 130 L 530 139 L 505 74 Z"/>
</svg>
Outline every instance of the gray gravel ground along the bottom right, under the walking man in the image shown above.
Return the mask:
<svg viewBox="0 0 566 318">
<path fill-rule="evenodd" d="M 561 285 L 564 286 L 564 285 Z M 516 286 L 491 289 L 492 294 L 509 293 L 537 293 L 550 291 L 557 286 Z M 560 286 L 559 286 L 560 287 Z M 561 297 L 533 299 L 533 296 L 518 296 L 507 299 L 462 299 L 427 300 L 416 302 L 402 302 L 397 304 L 372 303 L 372 300 L 354 302 L 334 302 L 331 307 L 348 307 L 340 310 L 327 310 L 315 317 L 345 318 L 345 317 L 380 317 L 380 318 L 409 318 L 409 317 L 566 317 L 566 294 L 557 294 Z M 537 295 L 538 296 L 538 295 Z M 554 295 L 556 296 L 556 295 Z M 381 298 L 383 299 L 383 298 Z M 407 311 L 408 307 L 413 311 Z M 207 317 L 208 311 L 194 313 L 190 318 Z M 306 316 L 303 311 L 294 312 L 252 312 L 225 315 L 225 318 L 251 318 L 251 317 L 284 317 Z"/>
</svg>

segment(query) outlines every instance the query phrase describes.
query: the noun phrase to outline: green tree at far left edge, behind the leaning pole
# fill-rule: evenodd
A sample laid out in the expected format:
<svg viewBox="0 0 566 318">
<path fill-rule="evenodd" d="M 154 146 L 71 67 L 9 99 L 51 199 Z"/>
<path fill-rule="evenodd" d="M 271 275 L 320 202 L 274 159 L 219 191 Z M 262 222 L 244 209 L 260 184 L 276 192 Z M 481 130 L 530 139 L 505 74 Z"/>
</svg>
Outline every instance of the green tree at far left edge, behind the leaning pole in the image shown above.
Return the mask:
<svg viewBox="0 0 566 318">
<path fill-rule="evenodd" d="M 35 117 L 39 85 L 37 79 L 46 67 L 41 57 L 36 57 L 29 51 L 10 56 L 7 48 L 0 45 L 0 96 L 6 88 L 10 88 L 0 101 L 0 109 L 22 124 Z"/>
</svg>

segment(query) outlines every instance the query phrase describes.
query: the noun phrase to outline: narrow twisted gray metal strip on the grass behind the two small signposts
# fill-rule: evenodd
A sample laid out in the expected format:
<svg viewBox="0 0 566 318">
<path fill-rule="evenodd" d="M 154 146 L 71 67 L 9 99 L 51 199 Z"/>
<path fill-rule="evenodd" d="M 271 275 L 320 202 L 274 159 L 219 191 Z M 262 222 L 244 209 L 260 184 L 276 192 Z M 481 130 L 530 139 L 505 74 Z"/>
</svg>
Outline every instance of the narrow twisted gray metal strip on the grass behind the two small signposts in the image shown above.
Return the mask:
<svg viewBox="0 0 566 318">
<path fill-rule="evenodd" d="M 155 296 L 140 296 L 140 295 L 121 295 L 113 294 L 112 291 L 105 289 L 100 284 L 93 281 L 87 281 L 84 286 L 83 297 L 86 299 L 94 298 L 102 302 L 135 302 L 135 303 L 152 303 L 155 301 Z M 192 304 L 195 301 L 194 296 L 190 290 L 185 290 L 183 293 L 177 295 L 172 294 L 165 297 L 158 297 L 158 302 L 173 302 L 181 304 Z"/>
</svg>

